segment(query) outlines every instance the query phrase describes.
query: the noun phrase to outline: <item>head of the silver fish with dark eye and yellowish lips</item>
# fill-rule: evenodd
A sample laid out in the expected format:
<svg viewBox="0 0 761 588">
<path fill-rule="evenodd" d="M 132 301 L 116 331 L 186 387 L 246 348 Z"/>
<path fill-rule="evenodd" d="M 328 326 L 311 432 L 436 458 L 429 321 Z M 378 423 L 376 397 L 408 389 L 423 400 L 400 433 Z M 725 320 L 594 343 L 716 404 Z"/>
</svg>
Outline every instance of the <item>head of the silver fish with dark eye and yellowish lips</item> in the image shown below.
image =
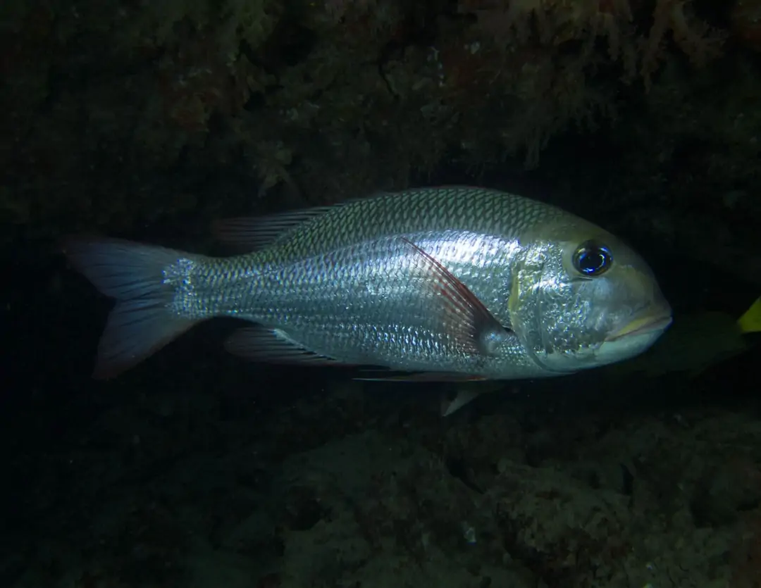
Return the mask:
<svg viewBox="0 0 761 588">
<path fill-rule="evenodd" d="M 547 370 L 632 358 L 671 323 L 647 262 L 600 227 L 563 219 L 537 229 L 521 257 L 509 301 L 512 326 Z"/>
</svg>

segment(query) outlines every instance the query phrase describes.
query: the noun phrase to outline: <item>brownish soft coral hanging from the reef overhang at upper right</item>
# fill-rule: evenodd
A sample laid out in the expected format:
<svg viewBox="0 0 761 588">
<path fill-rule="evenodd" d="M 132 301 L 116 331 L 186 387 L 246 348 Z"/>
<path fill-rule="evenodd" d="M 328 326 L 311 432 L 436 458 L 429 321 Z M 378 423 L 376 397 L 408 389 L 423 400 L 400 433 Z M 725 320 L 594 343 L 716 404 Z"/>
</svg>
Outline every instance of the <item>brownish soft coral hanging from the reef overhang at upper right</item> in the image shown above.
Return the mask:
<svg viewBox="0 0 761 588">
<path fill-rule="evenodd" d="M 613 89 L 594 82 L 601 68 L 616 65 L 622 81 L 641 78 L 651 87 L 669 32 L 695 65 L 718 56 L 723 35 L 696 22 L 684 2 L 659 0 L 647 34 L 636 27 L 632 4 L 462 0 L 460 12 L 475 14 L 476 25 L 454 55 L 442 52 L 442 76 L 463 84 L 454 92 L 465 88 L 468 97 L 483 91 L 502 94 L 508 103 L 517 97 L 519 113 L 502 123 L 501 142 L 508 154 L 525 148 L 526 163 L 533 167 L 549 139 L 569 123 L 594 129 L 597 122 L 613 119 Z M 606 43 L 607 55 L 597 51 L 597 40 Z"/>
</svg>

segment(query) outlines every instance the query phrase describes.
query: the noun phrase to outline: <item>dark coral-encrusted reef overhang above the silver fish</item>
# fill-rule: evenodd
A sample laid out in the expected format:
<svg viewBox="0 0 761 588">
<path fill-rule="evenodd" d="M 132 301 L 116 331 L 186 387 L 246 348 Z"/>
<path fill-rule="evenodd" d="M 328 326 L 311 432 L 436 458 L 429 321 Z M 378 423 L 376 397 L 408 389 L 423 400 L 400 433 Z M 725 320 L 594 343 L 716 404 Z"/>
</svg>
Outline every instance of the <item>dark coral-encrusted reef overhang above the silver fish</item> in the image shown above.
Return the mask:
<svg viewBox="0 0 761 588">
<path fill-rule="evenodd" d="M 756 236 L 732 225 L 759 221 L 759 11 L 8 0 L 5 242 L 336 202 L 457 170 L 540 176 L 564 205 L 603 201 L 605 218 L 634 209 L 633 231 L 717 263 L 740 255 L 761 282 Z"/>
</svg>

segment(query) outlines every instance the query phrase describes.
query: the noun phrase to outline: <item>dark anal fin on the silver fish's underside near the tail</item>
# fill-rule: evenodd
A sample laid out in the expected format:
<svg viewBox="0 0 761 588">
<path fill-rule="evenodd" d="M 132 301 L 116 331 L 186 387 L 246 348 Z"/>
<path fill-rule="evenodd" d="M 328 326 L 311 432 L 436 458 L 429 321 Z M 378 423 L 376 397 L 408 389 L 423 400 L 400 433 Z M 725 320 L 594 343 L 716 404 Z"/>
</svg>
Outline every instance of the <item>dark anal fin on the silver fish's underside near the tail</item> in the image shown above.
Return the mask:
<svg viewBox="0 0 761 588">
<path fill-rule="evenodd" d="M 238 329 L 224 342 L 224 348 L 240 358 L 268 364 L 348 365 L 304 349 L 280 329 L 260 326 Z"/>
</svg>

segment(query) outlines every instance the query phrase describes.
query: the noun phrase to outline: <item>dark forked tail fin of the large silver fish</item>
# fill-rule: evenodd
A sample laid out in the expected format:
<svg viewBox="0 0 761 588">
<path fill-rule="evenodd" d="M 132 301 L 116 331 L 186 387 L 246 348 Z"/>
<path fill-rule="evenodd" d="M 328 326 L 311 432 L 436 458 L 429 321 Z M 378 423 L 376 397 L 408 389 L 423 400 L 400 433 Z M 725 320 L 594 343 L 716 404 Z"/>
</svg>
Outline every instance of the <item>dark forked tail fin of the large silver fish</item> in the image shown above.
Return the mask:
<svg viewBox="0 0 761 588">
<path fill-rule="evenodd" d="M 63 246 L 72 266 L 103 294 L 116 298 L 100 338 L 93 377 L 115 377 L 177 338 L 195 319 L 171 310 L 176 287 L 164 270 L 188 256 L 115 239 L 72 239 Z"/>
</svg>

